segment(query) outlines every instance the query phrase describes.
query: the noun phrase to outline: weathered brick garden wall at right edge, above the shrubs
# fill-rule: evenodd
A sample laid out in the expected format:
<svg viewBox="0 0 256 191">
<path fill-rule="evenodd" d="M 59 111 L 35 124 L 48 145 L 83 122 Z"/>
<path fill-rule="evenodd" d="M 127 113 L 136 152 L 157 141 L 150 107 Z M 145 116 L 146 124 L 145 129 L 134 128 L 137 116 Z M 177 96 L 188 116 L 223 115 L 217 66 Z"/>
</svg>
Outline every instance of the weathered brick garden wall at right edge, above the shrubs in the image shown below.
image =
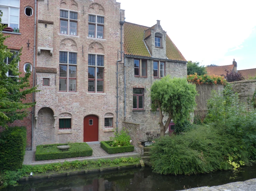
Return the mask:
<svg viewBox="0 0 256 191">
<path fill-rule="evenodd" d="M 231 84 L 233 91 L 238 93 L 240 101 L 247 106 L 248 98 L 251 101 L 256 90 L 256 80 L 242 80 L 231 82 Z"/>
</svg>

